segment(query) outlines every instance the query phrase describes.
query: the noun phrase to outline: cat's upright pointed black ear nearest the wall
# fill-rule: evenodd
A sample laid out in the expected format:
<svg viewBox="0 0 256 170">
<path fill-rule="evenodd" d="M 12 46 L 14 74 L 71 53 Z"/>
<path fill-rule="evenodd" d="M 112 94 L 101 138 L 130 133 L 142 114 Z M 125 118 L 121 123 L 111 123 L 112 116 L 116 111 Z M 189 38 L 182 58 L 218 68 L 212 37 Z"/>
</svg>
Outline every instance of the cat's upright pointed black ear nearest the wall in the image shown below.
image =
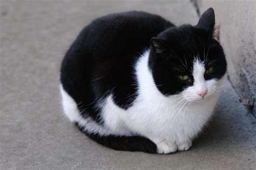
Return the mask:
<svg viewBox="0 0 256 170">
<path fill-rule="evenodd" d="M 215 25 L 215 15 L 214 10 L 212 8 L 207 9 L 200 17 L 198 24 L 196 27 L 206 29 L 211 34 L 214 32 Z"/>
</svg>

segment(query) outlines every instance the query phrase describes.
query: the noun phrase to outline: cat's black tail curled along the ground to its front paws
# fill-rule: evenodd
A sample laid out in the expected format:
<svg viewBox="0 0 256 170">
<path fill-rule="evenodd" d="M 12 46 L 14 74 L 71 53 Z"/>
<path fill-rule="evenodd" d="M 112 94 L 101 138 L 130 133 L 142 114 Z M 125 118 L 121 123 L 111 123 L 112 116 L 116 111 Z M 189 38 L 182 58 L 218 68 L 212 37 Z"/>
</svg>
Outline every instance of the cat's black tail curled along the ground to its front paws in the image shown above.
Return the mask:
<svg viewBox="0 0 256 170">
<path fill-rule="evenodd" d="M 99 136 L 96 133 L 84 131 L 83 126 L 76 123 L 77 128 L 86 134 L 87 137 L 97 143 L 118 151 L 140 151 L 146 153 L 157 153 L 157 146 L 150 139 L 142 136 Z"/>
</svg>

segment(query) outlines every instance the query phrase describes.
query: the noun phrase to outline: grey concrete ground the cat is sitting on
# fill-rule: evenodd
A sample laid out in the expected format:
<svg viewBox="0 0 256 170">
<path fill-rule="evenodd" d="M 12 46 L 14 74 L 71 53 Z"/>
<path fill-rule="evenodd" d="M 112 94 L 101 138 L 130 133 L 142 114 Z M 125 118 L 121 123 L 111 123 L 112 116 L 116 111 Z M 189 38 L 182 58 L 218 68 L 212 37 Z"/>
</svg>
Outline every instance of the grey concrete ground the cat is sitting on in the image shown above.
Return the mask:
<svg viewBox="0 0 256 170">
<path fill-rule="evenodd" d="M 184 1 L 0 0 L 0 169 L 256 169 L 256 120 L 230 84 L 189 151 L 113 151 L 62 115 L 59 67 L 83 26 L 112 12 L 143 10 L 196 24 Z"/>
</svg>

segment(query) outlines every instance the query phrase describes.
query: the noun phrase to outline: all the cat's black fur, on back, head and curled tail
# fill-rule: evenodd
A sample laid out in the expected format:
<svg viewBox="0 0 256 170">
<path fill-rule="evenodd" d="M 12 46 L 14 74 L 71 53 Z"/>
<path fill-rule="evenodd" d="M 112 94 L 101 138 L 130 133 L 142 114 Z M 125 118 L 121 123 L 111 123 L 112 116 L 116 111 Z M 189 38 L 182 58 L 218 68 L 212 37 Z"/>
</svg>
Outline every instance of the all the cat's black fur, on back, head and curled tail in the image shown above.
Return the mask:
<svg viewBox="0 0 256 170">
<path fill-rule="evenodd" d="M 137 96 L 134 64 L 145 49 L 151 49 L 149 68 L 156 85 L 160 85 L 159 91 L 165 95 L 177 94 L 193 84 L 191 69 L 195 55 L 203 60 L 207 53 L 208 67 L 214 68 L 205 79 L 222 77 L 226 60 L 213 32 L 213 9 L 202 15 L 198 25 L 180 27 L 146 12 L 107 15 L 93 20 L 80 32 L 64 57 L 60 81 L 82 116 L 104 124 L 96 101 L 112 94 L 120 108 L 132 105 Z M 181 64 L 185 62 L 186 69 Z M 190 75 L 190 79 L 180 81 L 179 74 Z M 156 153 L 156 145 L 144 137 L 85 133 L 115 150 Z"/>
</svg>

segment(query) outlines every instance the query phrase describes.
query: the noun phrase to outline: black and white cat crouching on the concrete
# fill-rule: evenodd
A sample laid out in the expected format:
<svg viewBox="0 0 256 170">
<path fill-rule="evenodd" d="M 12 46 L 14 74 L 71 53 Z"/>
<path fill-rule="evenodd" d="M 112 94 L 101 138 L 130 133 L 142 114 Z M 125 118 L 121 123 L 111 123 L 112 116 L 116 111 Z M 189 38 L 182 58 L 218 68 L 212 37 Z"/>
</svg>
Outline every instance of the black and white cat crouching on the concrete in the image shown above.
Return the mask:
<svg viewBox="0 0 256 170">
<path fill-rule="evenodd" d="M 65 115 L 115 150 L 188 150 L 226 81 L 214 11 L 196 26 L 123 12 L 87 25 L 62 62 Z"/>
</svg>

